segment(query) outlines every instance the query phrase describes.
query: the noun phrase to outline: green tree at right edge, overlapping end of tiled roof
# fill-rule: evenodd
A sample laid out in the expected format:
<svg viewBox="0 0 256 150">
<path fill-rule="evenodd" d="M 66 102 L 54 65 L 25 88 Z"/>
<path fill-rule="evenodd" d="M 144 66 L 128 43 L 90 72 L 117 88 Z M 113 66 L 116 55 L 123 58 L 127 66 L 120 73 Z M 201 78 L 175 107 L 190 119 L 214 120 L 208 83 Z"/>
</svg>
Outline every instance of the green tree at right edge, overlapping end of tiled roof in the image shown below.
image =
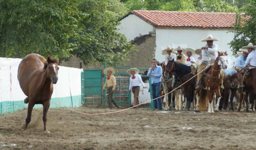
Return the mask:
<svg viewBox="0 0 256 150">
<path fill-rule="evenodd" d="M 229 43 L 233 54 L 236 54 L 239 48 L 248 45 L 248 43 L 253 43 L 255 45 L 256 41 L 256 2 L 250 1 L 249 4 L 244 5 L 241 11 L 245 14 L 241 15 L 237 13 L 236 23 L 234 24 L 234 39 Z M 248 17 L 250 16 L 250 17 Z"/>
</svg>

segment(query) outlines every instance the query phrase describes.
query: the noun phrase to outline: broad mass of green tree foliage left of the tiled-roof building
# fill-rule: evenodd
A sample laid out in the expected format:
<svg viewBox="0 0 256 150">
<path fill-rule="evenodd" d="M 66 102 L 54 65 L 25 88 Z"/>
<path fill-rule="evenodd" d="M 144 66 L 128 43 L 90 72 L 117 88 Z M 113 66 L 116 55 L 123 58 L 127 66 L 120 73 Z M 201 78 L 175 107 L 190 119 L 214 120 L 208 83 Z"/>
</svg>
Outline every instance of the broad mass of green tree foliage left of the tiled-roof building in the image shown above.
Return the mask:
<svg viewBox="0 0 256 150">
<path fill-rule="evenodd" d="M 127 8 L 118 0 L 0 0 L 0 57 L 37 53 L 85 64 L 117 65 L 134 52 L 116 32 Z"/>
</svg>

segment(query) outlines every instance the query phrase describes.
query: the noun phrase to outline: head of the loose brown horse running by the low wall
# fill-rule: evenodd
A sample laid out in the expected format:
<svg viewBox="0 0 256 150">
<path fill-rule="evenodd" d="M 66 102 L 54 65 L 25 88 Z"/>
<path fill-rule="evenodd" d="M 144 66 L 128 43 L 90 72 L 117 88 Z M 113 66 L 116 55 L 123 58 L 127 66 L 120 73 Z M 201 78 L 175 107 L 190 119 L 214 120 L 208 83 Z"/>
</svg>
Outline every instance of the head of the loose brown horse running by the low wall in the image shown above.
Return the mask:
<svg viewBox="0 0 256 150">
<path fill-rule="evenodd" d="M 47 71 L 47 77 L 49 77 L 53 84 L 56 84 L 58 81 L 58 59 L 53 59 L 50 56 L 47 58 L 47 62 L 45 62 L 44 69 Z"/>
</svg>

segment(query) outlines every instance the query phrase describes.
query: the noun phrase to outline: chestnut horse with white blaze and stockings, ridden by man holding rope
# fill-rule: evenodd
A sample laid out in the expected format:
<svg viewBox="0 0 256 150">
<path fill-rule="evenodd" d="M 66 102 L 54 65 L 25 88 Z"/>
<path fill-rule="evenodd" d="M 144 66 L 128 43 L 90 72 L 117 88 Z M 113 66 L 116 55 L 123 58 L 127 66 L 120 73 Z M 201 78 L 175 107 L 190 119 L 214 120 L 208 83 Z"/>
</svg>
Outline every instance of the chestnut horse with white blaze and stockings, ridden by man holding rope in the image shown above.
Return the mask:
<svg viewBox="0 0 256 150">
<path fill-rule="evenodd" d="M 215 110 L 218 111 L 219 109 L 219 103 L 220 103 L 220 70 L 222 67 L 225 67 L 227 69 L 228 63 L 227 63 L 227 57 L 225 56 L 225 53 L 218 52 L 218 57 L 215 59 L 214 65 L 208 69 L 208 71 L 205 73 L 205 82 L 201 83 L 201 90 L 199 93 L 199 110 L 205 111 L 206 110 L 206 104 L 208 102 L 208 112 L 214 112 L 213 109 L 213 97 L 214 92 L 218 96 L 218 102 Z M 206 89 L 204 89 L 206 87 Z"/>
</svg>

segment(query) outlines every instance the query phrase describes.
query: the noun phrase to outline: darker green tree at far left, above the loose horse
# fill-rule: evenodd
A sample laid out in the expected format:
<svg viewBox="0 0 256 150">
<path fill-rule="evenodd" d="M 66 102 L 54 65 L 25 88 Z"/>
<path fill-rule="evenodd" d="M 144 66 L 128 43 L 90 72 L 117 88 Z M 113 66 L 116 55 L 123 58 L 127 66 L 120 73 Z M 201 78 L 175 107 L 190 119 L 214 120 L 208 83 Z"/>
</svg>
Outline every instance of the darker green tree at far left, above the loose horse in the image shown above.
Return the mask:
<svg viewBox="0 0 256 150">
<path fill-rule="evenodd" d="M 0 1 L 0 57 L 70 56 L 77 48 L 76 1 Z"/>
</svg>

